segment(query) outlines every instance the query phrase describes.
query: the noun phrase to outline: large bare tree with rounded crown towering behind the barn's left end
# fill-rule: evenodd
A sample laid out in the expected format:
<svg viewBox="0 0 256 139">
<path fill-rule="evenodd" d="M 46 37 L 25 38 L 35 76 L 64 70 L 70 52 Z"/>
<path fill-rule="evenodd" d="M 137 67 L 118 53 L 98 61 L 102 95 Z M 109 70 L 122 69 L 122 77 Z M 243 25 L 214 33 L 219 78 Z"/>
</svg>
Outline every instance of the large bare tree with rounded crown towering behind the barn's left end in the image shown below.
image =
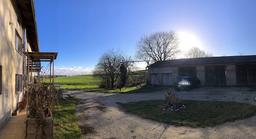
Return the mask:
<svg viewBox="0 0 256 139">
<path fill-rule="evenodd" d="M 179 49 L 179 34 L 176 31 L 161 31 L 144 35 L 136 43 L 136 55 L 139 60 L 153 62 L 175 59 Z"/>
</svg>

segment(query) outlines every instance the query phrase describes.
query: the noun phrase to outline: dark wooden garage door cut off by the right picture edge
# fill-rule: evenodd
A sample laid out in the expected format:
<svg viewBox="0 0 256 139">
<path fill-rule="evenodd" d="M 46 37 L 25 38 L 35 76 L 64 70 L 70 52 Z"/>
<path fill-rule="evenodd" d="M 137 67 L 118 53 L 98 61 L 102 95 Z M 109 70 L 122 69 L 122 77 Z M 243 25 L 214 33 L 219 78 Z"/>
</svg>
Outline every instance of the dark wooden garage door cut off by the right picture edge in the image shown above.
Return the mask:
<svg viewBox="0 0 256 139">
<path fill-rule="evenodd" d="M 236 66 L 237 85 L 256 85 L 256 64 Z"/>
</svg>

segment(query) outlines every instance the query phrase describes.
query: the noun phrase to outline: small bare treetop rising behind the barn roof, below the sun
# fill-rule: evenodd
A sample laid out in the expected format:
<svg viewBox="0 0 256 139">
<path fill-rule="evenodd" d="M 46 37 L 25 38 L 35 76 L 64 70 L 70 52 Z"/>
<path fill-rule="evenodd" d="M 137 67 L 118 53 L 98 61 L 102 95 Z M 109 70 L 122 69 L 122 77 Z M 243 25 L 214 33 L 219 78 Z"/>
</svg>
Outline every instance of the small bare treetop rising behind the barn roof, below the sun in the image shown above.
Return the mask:
<svg viewBox="0 0 256 139">
<path fill-rule="evenodd" d="M 204 52 L 198 47 L 192 47 L 184 54 L 185 58 L 213 57 L 212 53 Z"/>
</svg>

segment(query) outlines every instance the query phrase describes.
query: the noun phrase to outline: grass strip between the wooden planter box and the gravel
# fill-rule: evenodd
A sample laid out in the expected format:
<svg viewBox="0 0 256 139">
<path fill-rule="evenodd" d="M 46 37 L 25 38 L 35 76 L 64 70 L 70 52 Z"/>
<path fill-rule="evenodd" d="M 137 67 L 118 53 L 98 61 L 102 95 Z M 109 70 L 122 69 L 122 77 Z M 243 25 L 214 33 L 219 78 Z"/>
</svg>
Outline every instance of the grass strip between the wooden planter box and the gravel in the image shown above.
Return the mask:
<svg viewBox="0 0 256 139">
<path fill-rule="evenodd" d="M 76 101 L 72 97 L 59 100 L 59 106 L 55 106 L 54 138 L 55 139 L 82 139 L 82 133 L 77 124 L 75 115 Z"/>
</svg>

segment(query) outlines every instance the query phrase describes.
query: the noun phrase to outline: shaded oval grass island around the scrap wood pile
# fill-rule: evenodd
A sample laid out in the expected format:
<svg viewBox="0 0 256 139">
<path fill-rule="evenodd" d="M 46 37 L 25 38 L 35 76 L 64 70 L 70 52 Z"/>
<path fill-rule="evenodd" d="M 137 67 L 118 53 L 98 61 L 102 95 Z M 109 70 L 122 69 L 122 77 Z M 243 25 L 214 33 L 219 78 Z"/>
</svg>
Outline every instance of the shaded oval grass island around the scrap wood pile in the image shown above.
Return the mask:
<svg viewBox="0 0 256 139">
<path fill-rule="evenodd" d="M 171 125 L 207 127 L 245 119 L 256 114 L 247 103 L 184 100 L 185 110 L 163 111 L 164 100 L 148 100 L 122 104 L 128 112 Z"/>
</svg>

